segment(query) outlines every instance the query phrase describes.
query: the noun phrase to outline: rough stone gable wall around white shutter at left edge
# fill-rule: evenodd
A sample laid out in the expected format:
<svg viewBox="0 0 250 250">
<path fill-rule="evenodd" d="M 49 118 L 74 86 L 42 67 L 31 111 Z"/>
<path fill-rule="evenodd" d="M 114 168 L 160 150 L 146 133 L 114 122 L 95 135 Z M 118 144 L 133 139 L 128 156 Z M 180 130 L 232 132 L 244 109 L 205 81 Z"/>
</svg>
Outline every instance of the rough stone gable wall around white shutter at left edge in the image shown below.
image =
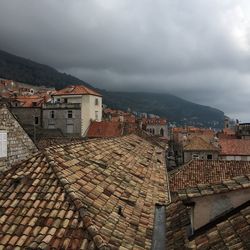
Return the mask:
<svg viewBox="0 0 250 250">
<path fill-rule="evenodd" d="M 0 158 L 1 172 L 37 151 L 33 141 L 4 105 L 0 106 L 0 130 L 7 132 L 7 157 Z"/>
</svg>

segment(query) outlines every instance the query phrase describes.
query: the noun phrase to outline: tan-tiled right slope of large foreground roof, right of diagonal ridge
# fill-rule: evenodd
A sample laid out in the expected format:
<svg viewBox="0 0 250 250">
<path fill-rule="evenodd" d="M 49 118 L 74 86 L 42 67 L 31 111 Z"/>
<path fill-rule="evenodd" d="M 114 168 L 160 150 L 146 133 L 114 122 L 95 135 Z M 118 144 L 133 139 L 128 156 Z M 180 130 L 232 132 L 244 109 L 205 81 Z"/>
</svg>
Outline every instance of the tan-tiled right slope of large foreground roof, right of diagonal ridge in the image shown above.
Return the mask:
<svg viewBox="0 0 250 250">
<path fill-rule="evenodd" d="M 164 155 L 156 153 L 160 150 L 130 135 L 55 146 L 47 154 L 110 245 L 149 249 L 152 235 L 147 230 L 153 230 L 155 204 L 168 202 Z M 58 162 L 64 155 L 78 162 Z"/>
</svg>

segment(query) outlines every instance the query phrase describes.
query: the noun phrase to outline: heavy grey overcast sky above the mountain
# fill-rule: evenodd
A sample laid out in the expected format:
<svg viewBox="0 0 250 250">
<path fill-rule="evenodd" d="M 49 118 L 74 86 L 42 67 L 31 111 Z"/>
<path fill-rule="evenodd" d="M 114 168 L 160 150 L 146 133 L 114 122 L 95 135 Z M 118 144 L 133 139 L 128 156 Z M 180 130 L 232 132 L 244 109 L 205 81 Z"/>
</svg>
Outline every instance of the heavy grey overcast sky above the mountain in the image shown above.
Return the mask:
<svg viewBox="0 0 250 250">
<path fill-rule="evenodd" d="M 249 122 L 249 13 L 248 0 L 0 0 L 0 49 Z"/>
</svg>

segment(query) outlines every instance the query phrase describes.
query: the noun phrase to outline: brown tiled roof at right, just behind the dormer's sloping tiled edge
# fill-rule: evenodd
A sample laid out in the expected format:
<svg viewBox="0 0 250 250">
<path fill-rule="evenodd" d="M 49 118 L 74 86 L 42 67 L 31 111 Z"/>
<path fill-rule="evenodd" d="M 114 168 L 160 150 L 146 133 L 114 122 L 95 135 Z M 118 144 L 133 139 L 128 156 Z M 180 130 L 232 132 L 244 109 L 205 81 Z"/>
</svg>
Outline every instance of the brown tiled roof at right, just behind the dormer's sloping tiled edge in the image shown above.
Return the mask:
<svg viewBox="0 0 250 250">
<path fill-rule="evenodd" d="M 233 177 L 250 174 L 247 161 L 192 160 L 170 174 L 171 192 L 196 187 L 199 184 L 216 184 Z"/>
</svg>

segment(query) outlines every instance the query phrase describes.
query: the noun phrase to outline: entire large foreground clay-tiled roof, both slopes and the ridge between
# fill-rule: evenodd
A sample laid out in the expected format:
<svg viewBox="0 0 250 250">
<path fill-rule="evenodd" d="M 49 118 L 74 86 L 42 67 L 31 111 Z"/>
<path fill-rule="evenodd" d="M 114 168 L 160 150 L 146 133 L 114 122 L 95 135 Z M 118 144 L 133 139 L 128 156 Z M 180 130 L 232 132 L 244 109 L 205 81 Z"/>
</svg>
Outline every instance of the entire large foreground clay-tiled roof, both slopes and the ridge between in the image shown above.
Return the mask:
<svg viewBox="0 0 250 250">
<path fill-rule="evenodd" d="M 0 247 L 151 248 L 155 204 L 169 201 L 162 149 L 130 135 L 45 156 L 1 176 Z"/>
</svg>

